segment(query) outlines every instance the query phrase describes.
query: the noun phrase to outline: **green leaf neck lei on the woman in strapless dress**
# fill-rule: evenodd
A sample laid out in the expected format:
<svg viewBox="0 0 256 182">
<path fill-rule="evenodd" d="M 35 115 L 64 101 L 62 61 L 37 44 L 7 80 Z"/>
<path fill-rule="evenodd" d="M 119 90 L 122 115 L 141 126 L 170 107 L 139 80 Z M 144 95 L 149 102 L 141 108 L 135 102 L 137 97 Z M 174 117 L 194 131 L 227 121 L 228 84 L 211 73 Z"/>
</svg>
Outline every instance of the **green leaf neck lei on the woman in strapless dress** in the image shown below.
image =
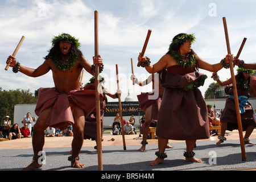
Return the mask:
<svg viewBox="0 0 256 182">
<path fill-rule="evenodd" d="M 177 51 L 174 51 L 174 50 L 170 50 L 168 53 L 170 53 L 170 55 L 174 57 L 177 64 L 179 64 L 180 67 L 182 68 L 192 68 L 192 67 L 195 67 L 196 65 L 197 57 L 193 55 L 192 52 L 188 53 L 185 56 L 180 55 Z M 184 60 L 186 58 L 188 58 L 188 60 Z"/>
</svg>

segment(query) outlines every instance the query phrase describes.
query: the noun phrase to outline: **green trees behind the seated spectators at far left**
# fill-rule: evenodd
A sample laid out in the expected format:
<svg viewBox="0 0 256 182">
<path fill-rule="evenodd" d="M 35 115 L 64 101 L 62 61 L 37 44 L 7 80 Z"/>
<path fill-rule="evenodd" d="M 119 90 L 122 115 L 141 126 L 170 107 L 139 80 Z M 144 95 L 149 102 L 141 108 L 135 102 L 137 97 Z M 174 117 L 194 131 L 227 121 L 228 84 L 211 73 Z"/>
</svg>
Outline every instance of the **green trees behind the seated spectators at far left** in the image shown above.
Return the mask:
<svg viewBox="0 0 256 182">
<path fill-rule="evenodd" d="M 33 96 L 30 89 L 2 90 L 0 87 L 0 119 L 1 124 L 6 115 L 10 116 L 11 121 L 14 119 L 14 106 L 16 104 L 36 104 L 38 97 Z"/>
</svg>

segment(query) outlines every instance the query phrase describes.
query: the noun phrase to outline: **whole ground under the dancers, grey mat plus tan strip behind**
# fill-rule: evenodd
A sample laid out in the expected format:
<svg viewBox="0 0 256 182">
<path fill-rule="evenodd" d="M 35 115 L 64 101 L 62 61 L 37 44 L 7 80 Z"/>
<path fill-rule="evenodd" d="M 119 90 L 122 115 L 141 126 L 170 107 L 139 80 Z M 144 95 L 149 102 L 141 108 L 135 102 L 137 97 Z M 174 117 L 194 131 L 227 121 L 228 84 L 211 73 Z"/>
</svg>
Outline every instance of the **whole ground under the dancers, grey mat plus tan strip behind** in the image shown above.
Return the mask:
<svg viewBox="0 0 256 182">
<path fill-rule="evenodd" d="M 246 145 L 246 161 L 242 161 L 238 131 L 227 133 L 228 140 L 221 146 L 216 145 L 217 137 L 198 140 L 195 148 L 196 157 L 202 163 L 184 161 L 184 141 L 170 140 L 174 149 L 167 149 L 168 158 L 159 166 L 148 166 L 156 158 L 158 140 L 149 139 L 147 150 L 138 152 L 142 138 L 139 135 L 125 136 L 126 150 L 123 150 L 122 136 L 104 135 L 102 142 L 102 163 L 104 171 L 233 171 L 256 169 L 256 145 Z M 114 138 L 114 141 L 111 139 Z M 96 142 L 85 140 L 80 154 L 80 161 L 86 165 L 83 169 L 69 167 L 72 137 L 46 138 L 44 152 L 46 164 L 38 171 L 97 171 Z M 256 131 L 250 137 L 256 143 Z M 30 164 L 33 156 L 31 138 L 0 142 L 0 171 L 21 171 Z"/>
</svg>

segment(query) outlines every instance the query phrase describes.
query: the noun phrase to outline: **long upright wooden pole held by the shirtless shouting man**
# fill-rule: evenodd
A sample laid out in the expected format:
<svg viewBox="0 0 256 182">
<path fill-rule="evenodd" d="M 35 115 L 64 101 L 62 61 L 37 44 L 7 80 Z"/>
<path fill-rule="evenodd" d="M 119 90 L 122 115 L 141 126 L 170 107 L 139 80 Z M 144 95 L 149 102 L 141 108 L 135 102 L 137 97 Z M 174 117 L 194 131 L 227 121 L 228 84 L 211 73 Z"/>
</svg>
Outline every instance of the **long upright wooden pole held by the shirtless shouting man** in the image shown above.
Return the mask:
<svg viewBox="0 0 256 182">
<path fill-rule="evenodd" d="M 98 56 L 98 11 L 94 12 L 94 33 L 95 33 L 95 57 Z M 100 105 L 100 69 L 95 65 L 95 90 L 96 90 L 96 122 L 97 122 L 97 151 L 98 151 L 98 170 L 103 171 L 102 164 L 102 138 L 101 138 L 101 105 Z"/>
</svg>

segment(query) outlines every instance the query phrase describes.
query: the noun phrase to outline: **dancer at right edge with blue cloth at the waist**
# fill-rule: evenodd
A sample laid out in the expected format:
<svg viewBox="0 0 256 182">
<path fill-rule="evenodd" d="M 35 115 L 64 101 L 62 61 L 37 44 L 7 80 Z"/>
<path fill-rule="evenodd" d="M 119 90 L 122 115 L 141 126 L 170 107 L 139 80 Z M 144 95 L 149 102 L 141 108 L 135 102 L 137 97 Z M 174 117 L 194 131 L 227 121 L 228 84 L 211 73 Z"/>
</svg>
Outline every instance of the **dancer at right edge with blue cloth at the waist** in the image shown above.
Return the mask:
<svg viewBox="0 0 256 182">
<path fill-rule="evenodd" d="M 237 82 L 237 93 L 241 113 L 242 129 L 246 131 L 244 142 L 245 144 L 253 144 L 250 142 L 250 135 L 256 126 L 256 120 L 254 115 L 254 110 L 251 104 L 247 101 L 250 98 L 250 90 L 254 96 L 256 96 L 255 90 L 251 87 L 250 80 L 251 75 L 254 71 L 246 68 L 238 68 L 236 75 Z M 236 107 L 234 104 L 234 93 L 232 86 L 232 78 L 229 80 L 221 81 L 217 73 L 213 73 L 213 80 L 217 81 L 220 86 L 226 86 L 225 93 L 229 95 L 226 99 L 225 108 L 221 115 L 221 135 L 218 136 L 219 141 L 216 144 L 223 143 L 226 138 L 224 137 L 226 130 L 233 131 L 238 129 L 237 117 L 236 117 Z"/>
</svg>

